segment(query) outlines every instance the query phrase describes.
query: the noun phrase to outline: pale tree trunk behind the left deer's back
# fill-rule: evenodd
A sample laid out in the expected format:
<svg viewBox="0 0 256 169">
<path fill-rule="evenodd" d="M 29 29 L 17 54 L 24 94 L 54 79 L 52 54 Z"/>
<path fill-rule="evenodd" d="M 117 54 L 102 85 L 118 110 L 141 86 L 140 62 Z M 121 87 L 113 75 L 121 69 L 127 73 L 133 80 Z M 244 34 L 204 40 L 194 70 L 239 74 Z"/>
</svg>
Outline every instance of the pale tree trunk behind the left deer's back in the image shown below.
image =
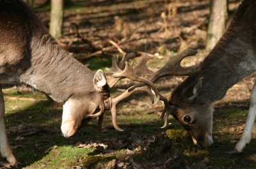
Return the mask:
<svg viewBox="0 0 256 169">
<path fill-rule="evenodd" d="M 60 38 L 63 26 L 63 0 L 51 0 L 50 34 L 53 38 Z"/>
</svg>

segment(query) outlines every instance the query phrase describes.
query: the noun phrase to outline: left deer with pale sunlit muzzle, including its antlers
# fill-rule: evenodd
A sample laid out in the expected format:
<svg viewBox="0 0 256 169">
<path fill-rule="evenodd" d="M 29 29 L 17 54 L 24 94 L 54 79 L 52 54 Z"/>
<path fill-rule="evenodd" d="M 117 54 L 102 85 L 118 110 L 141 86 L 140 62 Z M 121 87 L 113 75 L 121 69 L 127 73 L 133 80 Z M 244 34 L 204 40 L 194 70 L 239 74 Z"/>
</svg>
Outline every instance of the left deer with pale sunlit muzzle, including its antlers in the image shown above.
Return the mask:
<svg viewBox="0 0 256 169">
<path fill-rule="evenodd" d="M 163 75 L 191 75 L 200 70 L 200 63 L 186 68 L 180 67 L 180 61 L 195 54 L 194 50 L 185 50 L 177 57 L 172 57 L 156 73 L 145 66 L 150 59 L 147 55 L 133 68 L 133 64 L 129 65 L 127 61 L 135 55 L 125 54 L 120 62 L 118 57 L 113 57 L 113 69 L 110 73 L 114 75 L 107 82 L 102 70 L 94 73 L 68 55 L 22 0 L 0 0 L 0 15 L 0 149 L 1 156 L 10 165 L 17 164 L 17 160 L 6 135 L 2 84 L 22 82 L 45 92 L 54 101 L 64 102 L 61 131 L 65 137 L 70 137 L 76 133 L 82 121 L 88 122 L 95 117 L 99 117 L 100 132 L 105 110 L 111 110 L 113 126 L 122 131 L 116 124 L 116 104 L 119 101 L 133 92 L 146 91 L 152 102 L 164 99 L 168 103 L 157 91 L 154 80 Z M 169 71 L 170 68 L 174 71 Z M 153 77 L 147 80 L 141 78 L 141 75 Z M 110 98 L 110 89 L 122 78 L 141 83 L 116 98 Z M 157 96 L 155 101 L 151 90 Z"/>
</svg>

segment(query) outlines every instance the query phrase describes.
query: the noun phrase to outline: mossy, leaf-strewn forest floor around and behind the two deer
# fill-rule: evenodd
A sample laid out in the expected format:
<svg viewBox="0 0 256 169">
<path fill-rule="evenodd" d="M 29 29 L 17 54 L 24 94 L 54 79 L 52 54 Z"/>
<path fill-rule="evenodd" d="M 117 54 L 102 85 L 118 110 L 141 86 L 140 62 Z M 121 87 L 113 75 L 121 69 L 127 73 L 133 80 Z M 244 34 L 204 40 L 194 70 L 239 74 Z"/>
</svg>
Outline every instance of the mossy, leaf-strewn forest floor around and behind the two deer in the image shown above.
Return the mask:
<svg viewBox="0 0 256 169">
<path fill-rule="evenodd" d="M 151 54 L 148 68 L 163 66 L 168 53 L 175 55 L 185 48 L 198 54 L 182 61 L 190 66 L 204 60 L 209 1 L 179 0 L 141 1 L 68 1 L 65 4 L 63 37 L 58 42 L 68 53 L 93 71 L 111 68 L 111 56 L 134 52 L 138 63 L 141 54 Z M 232 16 L 239 1 L 230 1 Z M 46 27 L 49 26 L 49 4 L 35 1 L 34 10 Z M 171 11 L 171 12 L 170 12 Z M 177 13 L 175 12 L 177 11 Z M 169 15 L 170 14 L 170 15 Z M 75 23 L 79 36 L 74 31 Z M 107 78 L 111 78 L 110 75 Z M 186 77 L 165 77 L 157 80 L 161 94 L 168 97 Z M 256 168 L 256 135 L 241 155 L 228 155 L 234 149 L 248 114 L 250 91 L 255 73 L 228 89 L 226 96 L 214 103 L 213 136 L 215 146 L 200 149 L 182 126 L 171 123 L 161 129 L 163 121 L 147 94 L 138 92 L 117 107 L 118 123 L 124 132 L 111 128 L 111 114 L 106 112 L 103 133 L 97 133 L 97 119 L 90 121 L 67 139 L 61 135 L 60 103 L 26 85 L 6 85 L 6 128 L 18 168 Z M 131 80 L 115 85 L 112 96 L 118 96 Z M 127 124 L 127 126 L 125 126 Z M 184 133 L 185 132 L 185 133 Z M 8 167 L 0 160 L 3 168 Z"/>
</svg>

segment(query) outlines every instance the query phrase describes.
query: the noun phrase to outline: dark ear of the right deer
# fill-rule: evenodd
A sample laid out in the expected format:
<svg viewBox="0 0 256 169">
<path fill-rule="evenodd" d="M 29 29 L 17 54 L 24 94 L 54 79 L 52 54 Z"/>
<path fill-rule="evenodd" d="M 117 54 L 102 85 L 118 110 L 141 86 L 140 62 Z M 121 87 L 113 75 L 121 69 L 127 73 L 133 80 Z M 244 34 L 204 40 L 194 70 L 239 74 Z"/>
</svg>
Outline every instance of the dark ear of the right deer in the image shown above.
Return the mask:
<svg viewBox="0 0 256 169">
<path fill-rule="evenodd" d="M 201 77 L 196 84 L 191 84 L 186 91 L 184 91 L 184 96 L 188 101 L 193 101 L 193 99 L 199 94 L 202 87 L 202 79 Z"/>
</svg>

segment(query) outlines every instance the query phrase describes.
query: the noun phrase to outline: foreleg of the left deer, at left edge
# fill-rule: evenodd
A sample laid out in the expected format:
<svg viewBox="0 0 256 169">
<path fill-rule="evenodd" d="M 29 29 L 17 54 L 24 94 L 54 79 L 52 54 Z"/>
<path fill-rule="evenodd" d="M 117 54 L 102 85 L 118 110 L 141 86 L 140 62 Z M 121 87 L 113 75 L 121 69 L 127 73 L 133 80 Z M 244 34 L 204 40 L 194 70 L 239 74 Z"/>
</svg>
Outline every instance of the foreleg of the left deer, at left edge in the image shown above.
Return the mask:
<svg viewBox="0 0 256 169">
<path fill-rule="evenodd" d="M 12 154 L 12 149 L 8 141 L 5 122 L 4 122 L 4 98 L 2 92 L 2 84 L 0 84 L 0 152 L 3 158 L 6 158 L 10 165 L 14 166 L 17 163 L 17 160 Z"/>
</svg>

